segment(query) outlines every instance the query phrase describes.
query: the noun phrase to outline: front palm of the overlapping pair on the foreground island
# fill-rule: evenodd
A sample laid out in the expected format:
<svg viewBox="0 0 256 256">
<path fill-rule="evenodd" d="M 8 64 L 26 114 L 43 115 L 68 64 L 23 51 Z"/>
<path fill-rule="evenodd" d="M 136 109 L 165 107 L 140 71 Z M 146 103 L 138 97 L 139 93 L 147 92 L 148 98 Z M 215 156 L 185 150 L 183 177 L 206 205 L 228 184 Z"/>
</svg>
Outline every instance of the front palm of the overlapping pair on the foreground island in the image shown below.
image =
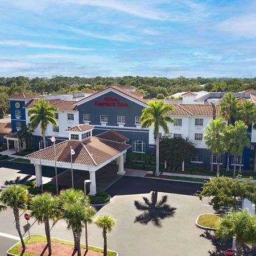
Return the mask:
<svg viewBox="0 0 256 256">
<path fill-rule="evenodd" d="M 64 204 L 63 218 L 67 221 L 68 229 L 72 229 L 74 238 L 76 238 L 77 256 L 81 256 L 80 241 L 82 235 L 82 226 L 86 221 L 85 216 L 86 206 L 81 202 L 76 202 L 75 204 Z"/>
</svg>

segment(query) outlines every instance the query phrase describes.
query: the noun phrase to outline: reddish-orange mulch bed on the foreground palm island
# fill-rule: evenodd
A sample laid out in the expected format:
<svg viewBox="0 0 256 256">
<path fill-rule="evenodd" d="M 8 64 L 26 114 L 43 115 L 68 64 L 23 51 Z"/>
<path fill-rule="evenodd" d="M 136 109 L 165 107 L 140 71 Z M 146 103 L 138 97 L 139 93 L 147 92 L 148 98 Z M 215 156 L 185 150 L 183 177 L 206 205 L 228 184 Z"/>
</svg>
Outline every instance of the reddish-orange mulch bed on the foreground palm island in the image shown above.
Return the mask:
<svg viewBox="0 0 256 256">
<path fill-rule="evenodd" d="M 19 252 L 22 252 L 20 246 Z M 26 245 L 26 253 L 34 255 L 48 256 L 47 242 L 33 242 Z M 81 248 L 81 254 L 84 256 L 102 256 L 103 253 L 97 251 L 88 250 L 85 254 L 85 249 Z M 77 252 L 74 250 L 73 245 L 63 245 L 61 243 L 52 242 L 52 254 L 51 256 L 75 256 Z"/>
</svg>

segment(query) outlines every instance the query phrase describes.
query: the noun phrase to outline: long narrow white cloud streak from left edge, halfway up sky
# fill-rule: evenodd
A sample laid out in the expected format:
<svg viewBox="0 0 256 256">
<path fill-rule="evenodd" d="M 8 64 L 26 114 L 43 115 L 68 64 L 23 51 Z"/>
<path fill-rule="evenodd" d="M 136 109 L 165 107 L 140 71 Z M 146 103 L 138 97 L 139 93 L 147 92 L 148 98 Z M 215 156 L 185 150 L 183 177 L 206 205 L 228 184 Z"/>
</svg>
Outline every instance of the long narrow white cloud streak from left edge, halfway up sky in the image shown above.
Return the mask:
<svg viewBox="0 0 256 256">
<path fill-rule="evenodd" d="M 63 49 L 63 50 L 71 50 L 71 51 L 90 51 L 91 50 L 90 48 L 84 48 L 84 47 L 60 46 L 56 44 L 43 44 L 43 43 L 15 41 L 15 40 L 0 41 L 0 45 L 1 46 L 21 46 L 21 47 L 31 47 L 31 48 Z"/>
</svg>

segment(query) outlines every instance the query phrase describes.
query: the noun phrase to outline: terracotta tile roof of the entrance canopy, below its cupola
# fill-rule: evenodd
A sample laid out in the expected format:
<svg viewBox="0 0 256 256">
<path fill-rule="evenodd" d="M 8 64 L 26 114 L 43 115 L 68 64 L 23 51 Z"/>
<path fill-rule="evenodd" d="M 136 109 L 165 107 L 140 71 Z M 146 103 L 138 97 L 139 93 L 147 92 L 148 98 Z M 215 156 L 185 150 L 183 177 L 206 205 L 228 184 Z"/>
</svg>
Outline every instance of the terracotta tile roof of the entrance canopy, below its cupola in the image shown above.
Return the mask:
<svg viewBox="0 0 256 256">
<path fill-rule="evenodd" d="M 99 166 L 107 160 L 127 150 L 131 146 L 124 143 L 108 141 L 97 137 L 86 138 L 83 141 L 64 141 L 56 144 L 57 162 L 71 163 L 70 147 L 75 151 L 72 156 L 73 164 L 82 164 L 86 166 Z M 36 151 L 26 158 L 41 159 L 54 162 L 53 146 Z"/>
</svg>

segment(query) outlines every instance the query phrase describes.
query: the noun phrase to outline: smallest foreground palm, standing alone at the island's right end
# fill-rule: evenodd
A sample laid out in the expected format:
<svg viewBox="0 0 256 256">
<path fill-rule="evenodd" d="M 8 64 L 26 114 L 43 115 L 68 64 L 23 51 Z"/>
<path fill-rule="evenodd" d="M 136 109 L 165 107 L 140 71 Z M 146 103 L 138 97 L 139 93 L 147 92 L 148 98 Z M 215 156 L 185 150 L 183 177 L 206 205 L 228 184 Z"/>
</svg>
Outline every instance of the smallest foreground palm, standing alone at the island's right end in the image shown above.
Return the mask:
<svg viewBox="0 0 256 256">
<path fill-rule="evenodd" d="M 108 232 L 112 232 L 112 230 L 114 229 L 115 221 L 108 214 L 105 214 L 105 215 L 99 216 L 95 221 L 95 224 L 99 228 L 102 228 L 102 236 L 104 239 L 104 256 L 108 256 L 106 235 Z"/>
</svg>

